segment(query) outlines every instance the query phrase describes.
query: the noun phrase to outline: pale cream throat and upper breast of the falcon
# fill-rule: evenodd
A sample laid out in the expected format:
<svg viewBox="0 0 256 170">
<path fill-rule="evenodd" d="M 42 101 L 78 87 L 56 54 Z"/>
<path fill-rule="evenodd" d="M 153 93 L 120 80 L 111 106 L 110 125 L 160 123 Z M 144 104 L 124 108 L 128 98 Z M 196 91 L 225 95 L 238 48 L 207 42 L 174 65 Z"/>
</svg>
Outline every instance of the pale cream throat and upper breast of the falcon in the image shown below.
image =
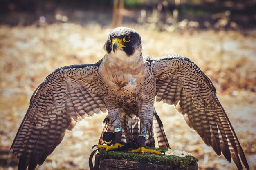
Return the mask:
<svg viewBox="0 0 256 170">
<path fill-rule="evenodd" d="M 122 50 L 106 53 L 100 66 L 102 81 L 121 93 L 133 93 L 145 76 L 145 60 L 141 50 L 132 56 Z"/>
</svg>

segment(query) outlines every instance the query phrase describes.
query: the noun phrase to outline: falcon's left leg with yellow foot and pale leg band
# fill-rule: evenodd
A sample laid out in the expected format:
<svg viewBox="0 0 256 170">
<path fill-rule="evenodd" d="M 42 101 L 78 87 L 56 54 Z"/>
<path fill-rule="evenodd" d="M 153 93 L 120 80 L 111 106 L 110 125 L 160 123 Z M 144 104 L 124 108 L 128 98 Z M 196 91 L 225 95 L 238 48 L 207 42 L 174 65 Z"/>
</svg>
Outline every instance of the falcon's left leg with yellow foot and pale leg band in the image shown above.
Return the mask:
<svg viewBox="0 0 256 170">
<path fill-rule="evenodd" d="M 121 144 L 122 129 L 121 129 L 121 123 L 120 123 L 120 109 L 119 108 L 108 109 L 108 117 L 112 124 L 112 129 L 114 131 L 113 139 L 108 143 L 105 142 L 107 145 L 97 145 L 97 148 L 106 148 L 106 151 L 117 149 L 123 146 Z"/>
</svg>

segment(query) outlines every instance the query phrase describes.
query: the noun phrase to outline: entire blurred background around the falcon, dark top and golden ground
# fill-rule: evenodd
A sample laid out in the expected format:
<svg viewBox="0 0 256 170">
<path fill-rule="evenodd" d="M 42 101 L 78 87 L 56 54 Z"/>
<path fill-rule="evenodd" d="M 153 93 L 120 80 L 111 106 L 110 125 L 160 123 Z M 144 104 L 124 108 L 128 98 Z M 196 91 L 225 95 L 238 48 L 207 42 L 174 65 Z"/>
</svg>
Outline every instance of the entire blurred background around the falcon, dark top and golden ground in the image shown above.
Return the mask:
<svg viewBox="0 0 256 170">
<path fill-rule="evenodd" d="M 9 149 L 36 87 L 56 68 L 100 60 L 116 26 L 137 30 L 144 54 L 184 55 L 206 73 L 256 169 L 255 9 L 255 0 L 1 0 L 0 170 L 17 168 Z M 172 149 L 191 152 L 200 170 L 236 170 L 173 106 L 156 109 Z M 88 170 L 105 116 L 81 121 L 37 169 Z"/>
</svg>

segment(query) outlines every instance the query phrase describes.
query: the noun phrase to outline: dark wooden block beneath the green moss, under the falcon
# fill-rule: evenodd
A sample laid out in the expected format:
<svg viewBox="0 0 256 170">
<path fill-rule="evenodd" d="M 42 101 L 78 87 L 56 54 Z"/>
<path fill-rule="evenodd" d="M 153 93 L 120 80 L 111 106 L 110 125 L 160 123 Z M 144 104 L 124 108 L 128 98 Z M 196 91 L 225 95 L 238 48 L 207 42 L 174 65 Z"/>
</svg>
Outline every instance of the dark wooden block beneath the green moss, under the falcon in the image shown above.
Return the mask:
<svg viewBox="0 0 256 170">
<path fill-rule="evenodd" d="M 135 162 L 119 159 L 109 159 L 95 156 L 94 170 L 198 170 L 198 164 L 193 163 L 185 167 L 177 168 L 168 165 L 157 165 L 147 162 Z"/>
</svg>

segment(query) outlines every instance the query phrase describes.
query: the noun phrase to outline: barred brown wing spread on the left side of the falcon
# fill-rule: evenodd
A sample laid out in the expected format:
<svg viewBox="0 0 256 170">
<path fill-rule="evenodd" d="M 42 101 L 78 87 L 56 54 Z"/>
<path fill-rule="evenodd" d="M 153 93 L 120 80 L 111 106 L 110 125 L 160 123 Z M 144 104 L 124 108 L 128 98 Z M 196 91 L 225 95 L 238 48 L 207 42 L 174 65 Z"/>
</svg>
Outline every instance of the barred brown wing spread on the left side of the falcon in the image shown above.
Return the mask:
<svg viewBox="0 0 256 170">
<path fill-rule="evenodd" d="M 34 170 L 79 119 L 106 111 L 98 86 L 97 64 L 58 68 L 36 89 L 11 149 L 18 170 Z"/>
</svg>

